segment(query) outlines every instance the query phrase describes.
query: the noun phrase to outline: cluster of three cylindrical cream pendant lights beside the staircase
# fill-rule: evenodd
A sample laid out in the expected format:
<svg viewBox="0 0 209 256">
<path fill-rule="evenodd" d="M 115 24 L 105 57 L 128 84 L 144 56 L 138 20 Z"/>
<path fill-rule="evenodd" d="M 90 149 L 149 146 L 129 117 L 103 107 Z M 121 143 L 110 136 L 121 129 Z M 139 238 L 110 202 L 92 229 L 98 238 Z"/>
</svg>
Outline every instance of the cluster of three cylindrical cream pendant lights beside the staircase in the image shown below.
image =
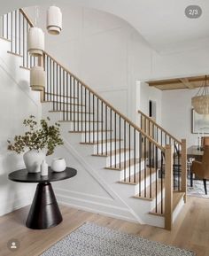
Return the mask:
<svg viewBox="0 0 209 256">
<path fill-rule="evenodd" d="M 36 8 L 35 8 L 36 9 Z M 27 34 L 27 51 L 33 57 L 41 59 L 39 66 L 30 69 L 30 87 L 32 90 L 43 91 L 45 87 L 45 72 L 43 69 L 44 33 L 36 25 L 37 9 L 35 12 L 35 27 L 30 27 Z M 62 30 L 62 12 L 57 6 L 50 6 L 47 12 L 47 30 L 50 35 L 59 35 Z"/>
</svg>

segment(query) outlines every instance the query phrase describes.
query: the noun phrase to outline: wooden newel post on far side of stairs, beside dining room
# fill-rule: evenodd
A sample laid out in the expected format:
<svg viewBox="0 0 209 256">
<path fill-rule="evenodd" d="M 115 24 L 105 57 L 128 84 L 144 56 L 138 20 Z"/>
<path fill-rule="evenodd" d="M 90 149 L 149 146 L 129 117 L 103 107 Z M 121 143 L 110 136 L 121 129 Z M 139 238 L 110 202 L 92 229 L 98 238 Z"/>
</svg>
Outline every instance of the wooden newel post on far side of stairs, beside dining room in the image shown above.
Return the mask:
<svg viewBox="0 0 209 256">
<path fill-rule="evenodd" d="M 187 202 L 187 146 L 186 140 L 182 139 L 182 192 L 184 203 Z"/>
</svg>

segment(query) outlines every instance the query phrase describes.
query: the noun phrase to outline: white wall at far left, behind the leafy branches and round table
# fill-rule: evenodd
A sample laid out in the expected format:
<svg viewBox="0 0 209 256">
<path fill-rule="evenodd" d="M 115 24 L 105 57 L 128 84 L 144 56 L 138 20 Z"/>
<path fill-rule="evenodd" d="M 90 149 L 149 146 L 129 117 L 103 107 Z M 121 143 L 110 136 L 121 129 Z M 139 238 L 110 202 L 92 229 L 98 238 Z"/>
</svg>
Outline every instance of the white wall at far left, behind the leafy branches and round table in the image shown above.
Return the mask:
<svg viewBox="0 0 209 256">
<path fill-rule="evenodd" d="M 29 88 L 29 72 L 19 68 L 21 58 L 7 53 L 9 45 L 0 39 L 0 215 L 31 203 L 35 186 L 8 180 L 24 163 L 21 155 L 7 151 L 7 140 L 23 132 L 21 123 L 30 114 L 42 114 L 38 94 Z"/>
</svg>

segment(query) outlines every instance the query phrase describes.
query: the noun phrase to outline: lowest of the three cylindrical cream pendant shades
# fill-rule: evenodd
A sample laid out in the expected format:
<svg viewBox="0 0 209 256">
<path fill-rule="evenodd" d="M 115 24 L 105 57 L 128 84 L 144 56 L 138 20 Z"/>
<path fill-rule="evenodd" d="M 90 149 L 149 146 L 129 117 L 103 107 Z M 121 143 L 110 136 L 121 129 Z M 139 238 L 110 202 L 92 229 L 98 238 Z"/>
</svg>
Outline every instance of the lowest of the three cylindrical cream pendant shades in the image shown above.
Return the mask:
<svg viewBox="0 0 209 256">
<path fill-rule="evenodd" d="M 45 87 L 45 72 L 42 66 L 30 69 L 30 87 L 32 90 L 42 91 Z"/>
</svg>

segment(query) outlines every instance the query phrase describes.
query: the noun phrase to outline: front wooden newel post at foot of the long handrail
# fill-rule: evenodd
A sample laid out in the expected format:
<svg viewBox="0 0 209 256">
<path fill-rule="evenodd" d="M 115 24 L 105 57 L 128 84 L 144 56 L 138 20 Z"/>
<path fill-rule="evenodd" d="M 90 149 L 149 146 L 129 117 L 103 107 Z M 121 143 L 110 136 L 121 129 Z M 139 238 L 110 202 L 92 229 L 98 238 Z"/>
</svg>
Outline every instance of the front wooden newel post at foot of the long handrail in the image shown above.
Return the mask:
<svg viewBox="0 0 209 256">
<path fill-rule="evenodd" d="M 173 147 L 166 145 L 165 167 L 165 228 L 172 229 L 173 225 Z"/>
</svg>

